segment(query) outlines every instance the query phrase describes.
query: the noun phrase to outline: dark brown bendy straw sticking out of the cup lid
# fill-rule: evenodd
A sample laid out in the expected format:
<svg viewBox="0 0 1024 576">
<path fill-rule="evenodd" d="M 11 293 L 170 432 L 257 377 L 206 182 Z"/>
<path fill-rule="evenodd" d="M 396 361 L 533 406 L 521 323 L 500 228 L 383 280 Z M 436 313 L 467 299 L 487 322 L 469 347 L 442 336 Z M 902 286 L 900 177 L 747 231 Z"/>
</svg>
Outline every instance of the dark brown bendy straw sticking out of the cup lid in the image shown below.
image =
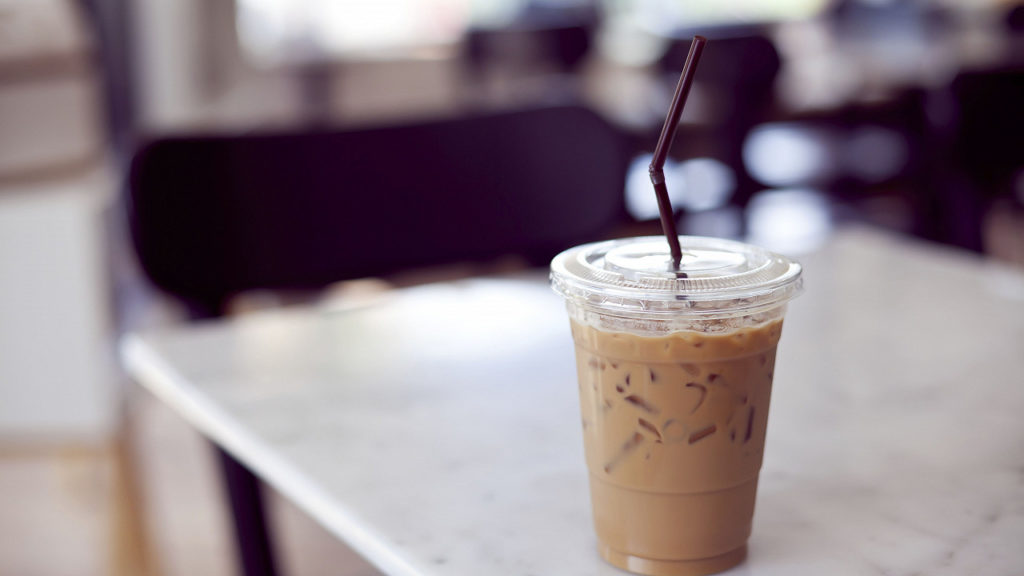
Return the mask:
<svg viewBox="0 0 1024 576">
<path fill-rule="evenodd" d="M 669 249 L 672 250 L 672 270 L 676 271 L 679 270 L 679 262 L 683 259 L 683 251 L 679 247 L 679 235 L 676 233 L 676 220 L 672 215 L 669 189 L 665 186 L 665 160 L 669 157 L 672 140 L 676 138 L 676 126 L 683 114 L 683 107 L 686 106 L 686 96 L 690 94 L 690 86 L 693 85 L 697 60 L 700 59 L 700 53 L 703 52 L 703 45 L 707 43 L 708 39 L 703 36 L 694 36 L 693 42 L 690 43 L 690 52 L 686 55 L 686 64 L 683 65 L 683 73 L 679 76 L 676 94 L 672 96 L 669 116 L 665 119 L 665 126 L 662 127 L 662 135 L 657 138 L 654 159 L 651 160 L 649 168 L 650 181 L 654 184 L 654 195 L 657 197 L 657 209 L 662 213 L 662 230 L 669 240 Z"/>
</svg>

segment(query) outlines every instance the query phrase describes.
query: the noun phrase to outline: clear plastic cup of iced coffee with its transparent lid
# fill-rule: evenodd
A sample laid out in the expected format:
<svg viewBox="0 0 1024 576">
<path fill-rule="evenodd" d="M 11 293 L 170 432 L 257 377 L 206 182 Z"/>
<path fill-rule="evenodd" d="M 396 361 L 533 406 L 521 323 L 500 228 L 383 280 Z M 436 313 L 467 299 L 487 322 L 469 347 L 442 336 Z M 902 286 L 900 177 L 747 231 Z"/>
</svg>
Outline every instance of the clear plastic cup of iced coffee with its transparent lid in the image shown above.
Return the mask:
<svg viewBox="0 0 1024 576">
<path fill-rule="evenodd" d="M 587 244 L 551 263 L 575 342 L 601 556 L 651 576 L 742 562 L 801 266 L 727 240 Z"/>
</svg>

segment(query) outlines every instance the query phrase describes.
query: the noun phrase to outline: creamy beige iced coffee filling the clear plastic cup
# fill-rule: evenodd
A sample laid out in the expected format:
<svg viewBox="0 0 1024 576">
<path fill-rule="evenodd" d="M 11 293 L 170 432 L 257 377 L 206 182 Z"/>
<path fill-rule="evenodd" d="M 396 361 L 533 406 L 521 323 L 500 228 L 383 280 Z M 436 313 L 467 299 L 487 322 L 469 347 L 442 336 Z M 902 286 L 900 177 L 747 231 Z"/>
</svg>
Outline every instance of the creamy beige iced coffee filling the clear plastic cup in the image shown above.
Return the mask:
<svg viewBox="0 0 1024 576">
<path fill-rule="evenodd" d="M 651 337 L 572 322 L 594 522 L 612 564 L 686 575 L 742 560 L 781 328 Z"/>
</svg>

